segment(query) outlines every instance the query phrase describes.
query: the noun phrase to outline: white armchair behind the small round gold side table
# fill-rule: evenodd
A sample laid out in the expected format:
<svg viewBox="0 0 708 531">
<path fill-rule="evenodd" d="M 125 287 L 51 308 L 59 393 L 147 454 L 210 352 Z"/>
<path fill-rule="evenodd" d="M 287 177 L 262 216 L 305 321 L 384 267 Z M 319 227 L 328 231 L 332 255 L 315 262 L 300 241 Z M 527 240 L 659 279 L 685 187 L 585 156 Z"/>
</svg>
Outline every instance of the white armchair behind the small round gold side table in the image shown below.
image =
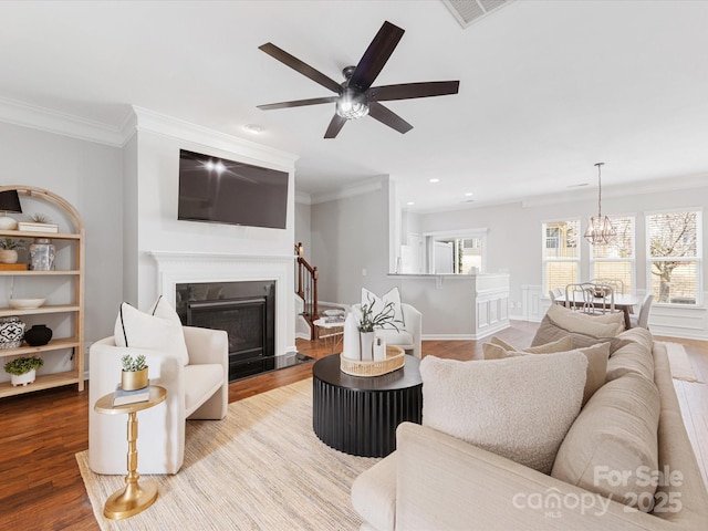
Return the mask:
<svg viewBox="0 0 708 531">
<path fill-rule="evenodd" d="M 118 347 L 114 337 L 91 345 L 88 382 L 88 462 L 97 473 L 126 473 L 125 415 L 101 415 L 93 405 L 115 391 L 121 357 L 144 354 L 150 384 L 167 389 L 158 406 L 138 414 L 140 473 L 177 473 L 185 455 L 185 421 L 221 419 L 229 404 L 228 335 L 222 330 L 183 327 L 189 363 L 170 352 Z"/>
</svg>

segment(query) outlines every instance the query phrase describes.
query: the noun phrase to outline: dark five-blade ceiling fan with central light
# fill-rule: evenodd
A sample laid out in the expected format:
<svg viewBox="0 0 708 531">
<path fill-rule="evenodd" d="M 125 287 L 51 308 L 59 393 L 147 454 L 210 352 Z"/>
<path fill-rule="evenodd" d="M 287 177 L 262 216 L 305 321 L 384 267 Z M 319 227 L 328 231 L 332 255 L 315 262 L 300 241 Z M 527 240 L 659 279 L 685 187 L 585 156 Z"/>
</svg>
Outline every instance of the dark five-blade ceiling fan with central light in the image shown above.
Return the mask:
<svg viewBox="0 0 708 531">
<path fill-rule="evenodd" d="M 337 83 L 323 73 L 316 71 L 298 58 L 294 58 L 275 44 L 268 42 L 259 50 L 268 53 L 281 63 L 310 77 L 315 83 L 336 93 L 336 96 L 315 97 L 311 100 L 296 100 L 293 102 L 271 103 L 258 105 L 258 108 L 271 111 L 274 108 L 301 107 L 305 105 L 320 105 L 335 103 L 335 114 L 330 122 L 325 138 L 335 138 L 342 131 L 347 119 L 356 119 L 367 114 L 388 127 L 399 133 L 407 133 L 413 125 L 403 119 L 393 111 L 383 106 L 379 102 L 393 100 L 410 100 L 414 97 L 444 96 L 457 94 L 459 81 L 433 81 L 427 83 L 403 83 L 398 85 L 372 86 L 376 76 L 381 73 L 386 61 L 398 45 L 404 30 L 384 22 L 371 42 L 364 55 L 356 66 L 347 66 L 342 73 L 345 81 Z"/>
</svg>

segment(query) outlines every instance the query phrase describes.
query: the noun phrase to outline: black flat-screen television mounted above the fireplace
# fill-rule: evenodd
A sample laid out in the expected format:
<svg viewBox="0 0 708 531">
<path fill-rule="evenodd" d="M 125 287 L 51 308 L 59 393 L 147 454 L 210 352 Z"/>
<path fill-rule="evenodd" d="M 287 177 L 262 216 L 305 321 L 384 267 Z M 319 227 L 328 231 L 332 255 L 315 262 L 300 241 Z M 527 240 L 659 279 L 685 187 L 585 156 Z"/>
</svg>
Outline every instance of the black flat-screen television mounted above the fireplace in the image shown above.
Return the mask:
<svg viewBox="0 0 708 531">
<path fill-rule="evenodd" d="M 179 150 L 177 218 L 285 228 L 288 173 Z"/>
</svg>

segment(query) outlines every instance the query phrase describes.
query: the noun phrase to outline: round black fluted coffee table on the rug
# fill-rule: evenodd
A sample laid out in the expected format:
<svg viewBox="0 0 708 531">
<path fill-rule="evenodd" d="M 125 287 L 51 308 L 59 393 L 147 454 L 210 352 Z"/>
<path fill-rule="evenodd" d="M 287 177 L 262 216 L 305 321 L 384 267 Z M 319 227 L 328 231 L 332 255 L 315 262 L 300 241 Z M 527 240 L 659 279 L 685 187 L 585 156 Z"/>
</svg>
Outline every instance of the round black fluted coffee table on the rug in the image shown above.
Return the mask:
<svg viewBox="0 0 708 531">
<path fill-rule="evenodd" d="M 364 457 L 385 457 L 396 449 L 396 427 L 420 424 L 420 361 L 406 355 L 405 366 L 382 376 L 350 376 L 340 355 L 312 367 L 312 427 L 332 448 Z"/>
</svg>

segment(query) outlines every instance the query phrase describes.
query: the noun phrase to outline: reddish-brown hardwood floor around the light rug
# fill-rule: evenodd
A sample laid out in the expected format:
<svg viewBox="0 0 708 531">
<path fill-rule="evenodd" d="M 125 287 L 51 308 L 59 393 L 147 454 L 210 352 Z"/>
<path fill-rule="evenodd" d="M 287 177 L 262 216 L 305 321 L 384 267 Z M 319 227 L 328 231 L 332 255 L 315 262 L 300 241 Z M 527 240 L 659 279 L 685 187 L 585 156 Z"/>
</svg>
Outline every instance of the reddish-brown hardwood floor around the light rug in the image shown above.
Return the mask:
<svg viewBox="0 0 708 531">
<path fill-rule="evenodd" d="M 537 324 L 513 322 L 498 335 L 528 345 Z M 708 382 L 708 342 L 681 343 Z M 481 341 L 425 341 L 423 353 L 454 360 L 481 357 Z M 298 341 L 303 354 L 330 354 L 323 340 Z M 312 364 L 268 373 L 229 386 L 229 402 L 281 387 L 312 375 Z M 684 421 L 708 485 L 708 385 L 675 381 Z M 97 531 L 74 455 L 88 446 L 88 393 L 74 386 L 0 399 L 0 530 Z"/>
</svg>

